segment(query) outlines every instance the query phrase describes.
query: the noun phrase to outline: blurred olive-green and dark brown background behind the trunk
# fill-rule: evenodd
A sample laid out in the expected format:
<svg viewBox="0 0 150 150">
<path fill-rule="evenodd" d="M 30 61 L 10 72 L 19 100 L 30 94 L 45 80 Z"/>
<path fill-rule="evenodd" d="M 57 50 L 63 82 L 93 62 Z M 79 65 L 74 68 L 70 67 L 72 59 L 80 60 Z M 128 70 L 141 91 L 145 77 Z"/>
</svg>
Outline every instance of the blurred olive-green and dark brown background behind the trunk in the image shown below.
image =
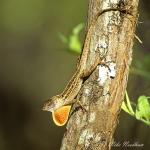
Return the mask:
<svg viewBox="0 0 150 150">
<path fill-rule="evenodd" d="M 65 127 L 55 126 L 41 108 L 63 90 L 76 66 L 77 55 L 65 51 L 58 33 L 69 35 L 85 22 L 87 8 L 80 0 L 0 0 L 0 150 L 59 149 Z M 133 101 L 150 96 L 149 10 L 150 2 L 140 1 L 136 33 L 143 44 L 135 40 L 128 83 Z M 150 127 L 122 111 L 115 138 L 148 150 Z"/>
</svg>

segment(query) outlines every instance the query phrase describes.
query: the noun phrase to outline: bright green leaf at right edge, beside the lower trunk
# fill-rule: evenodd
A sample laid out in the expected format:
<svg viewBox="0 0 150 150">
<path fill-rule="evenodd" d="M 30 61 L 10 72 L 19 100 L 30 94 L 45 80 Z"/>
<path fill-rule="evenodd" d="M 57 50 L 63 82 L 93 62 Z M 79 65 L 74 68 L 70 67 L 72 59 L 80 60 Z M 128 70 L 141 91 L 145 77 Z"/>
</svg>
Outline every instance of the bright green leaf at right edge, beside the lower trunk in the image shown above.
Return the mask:
<svg viewBox="0 0 150 150">
<path fill-rule="evenodd" d="M 136 107 L 136 118 L 150 122 L 150 103 L 148 97 L 140 96 Z"/>
</svg>

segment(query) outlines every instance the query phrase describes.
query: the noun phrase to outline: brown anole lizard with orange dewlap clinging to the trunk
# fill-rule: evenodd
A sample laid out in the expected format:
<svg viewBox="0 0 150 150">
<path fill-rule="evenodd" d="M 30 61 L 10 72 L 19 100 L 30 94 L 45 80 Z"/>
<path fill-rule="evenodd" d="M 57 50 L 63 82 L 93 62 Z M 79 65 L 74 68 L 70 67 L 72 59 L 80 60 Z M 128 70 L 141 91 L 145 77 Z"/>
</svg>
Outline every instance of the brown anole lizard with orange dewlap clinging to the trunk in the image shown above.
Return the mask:
<svg viewBox="0 0 150 150">
<path fill-rule="evenodd" d="M 87 32 L 76 72 L 74 73 L 65 90 L 61 94 L 53 96 L 45 102 L 43 110 L 52 112 L 52 117 L 56 125 L 62 126 L 67 122 L 71 109 L 71 104 L 75 102 L 75 97 L 81 89 L 84 78 L 89 76 L 95 70 L 97 65 L 101 63 L 100 59 L 95 59 L 95 63 L 93 65 L 91 65 L 90 67 L 86 66 L 88 54 L 90 51 L 90 40 L 92 37 L 92 32 L 99 16 L 102 15 L 104 12 L 116 10 L 118 9 L 106 9 L 102 12 L 99 12 L 95 16 Z"/>
</svg>

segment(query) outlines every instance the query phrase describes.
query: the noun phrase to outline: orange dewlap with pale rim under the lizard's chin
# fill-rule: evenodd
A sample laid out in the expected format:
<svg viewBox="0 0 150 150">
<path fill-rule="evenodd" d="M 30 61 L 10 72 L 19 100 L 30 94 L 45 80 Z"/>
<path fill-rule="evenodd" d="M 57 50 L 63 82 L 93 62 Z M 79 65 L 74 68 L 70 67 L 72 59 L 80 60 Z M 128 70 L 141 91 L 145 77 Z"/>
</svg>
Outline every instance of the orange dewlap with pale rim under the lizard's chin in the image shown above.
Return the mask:
<svg viewBox="0 0 150 150">
<path fill-rule="evenodd" d="M 53 121 L 57 126 L 63 126 L 66 124 L 69 117 L 70 109 L 71 105 L 67 105 L 52 112 Z"/>
</svg>

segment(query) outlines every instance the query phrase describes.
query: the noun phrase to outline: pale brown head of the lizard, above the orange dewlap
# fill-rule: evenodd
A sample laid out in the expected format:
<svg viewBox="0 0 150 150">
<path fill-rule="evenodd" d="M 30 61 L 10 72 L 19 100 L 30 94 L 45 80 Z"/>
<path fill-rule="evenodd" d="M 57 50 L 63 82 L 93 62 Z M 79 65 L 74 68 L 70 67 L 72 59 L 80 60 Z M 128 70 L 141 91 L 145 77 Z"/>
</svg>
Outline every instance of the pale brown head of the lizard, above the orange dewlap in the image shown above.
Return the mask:
<svg viewBox="0 0 150 150">
<path fill-rule="evenodd" d="M 53 112 L 56 109 L 63 106 L 63 103 L 64 101 L 62 99 L 62 96 L 60 95 L 53 96 L 47 102 L 44 103 L 43 110 Z"/>
</svg>

